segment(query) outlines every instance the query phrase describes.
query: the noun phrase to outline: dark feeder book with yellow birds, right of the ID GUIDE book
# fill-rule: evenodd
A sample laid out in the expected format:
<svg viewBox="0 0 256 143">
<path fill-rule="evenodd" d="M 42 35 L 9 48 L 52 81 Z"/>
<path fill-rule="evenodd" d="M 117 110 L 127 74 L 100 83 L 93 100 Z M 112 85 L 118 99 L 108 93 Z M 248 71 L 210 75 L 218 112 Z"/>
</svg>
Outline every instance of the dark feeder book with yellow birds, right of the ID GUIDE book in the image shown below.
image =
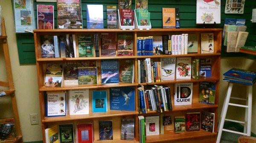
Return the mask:
<svg viewBox="0 0 256 143">
<path fill-rule="evenodd" d="M 200 82 L 199 103 L 215 104 L 215 82 Z"/>
</svg>

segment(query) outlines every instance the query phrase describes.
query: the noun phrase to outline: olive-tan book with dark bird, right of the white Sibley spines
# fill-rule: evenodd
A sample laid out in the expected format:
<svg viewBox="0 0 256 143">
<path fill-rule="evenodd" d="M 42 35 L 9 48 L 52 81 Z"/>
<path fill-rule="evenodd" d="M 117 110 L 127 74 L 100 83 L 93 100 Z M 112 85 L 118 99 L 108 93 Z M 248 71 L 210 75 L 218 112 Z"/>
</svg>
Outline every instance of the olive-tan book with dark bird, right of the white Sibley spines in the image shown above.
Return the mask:
<svg viewBox="0 0 256 143">
<path fill-rule="evenodd" d="M 188 53 L 197 53 L 198 52 L 198 35 L 197 34 L 188 34 Z"/>
</svg>

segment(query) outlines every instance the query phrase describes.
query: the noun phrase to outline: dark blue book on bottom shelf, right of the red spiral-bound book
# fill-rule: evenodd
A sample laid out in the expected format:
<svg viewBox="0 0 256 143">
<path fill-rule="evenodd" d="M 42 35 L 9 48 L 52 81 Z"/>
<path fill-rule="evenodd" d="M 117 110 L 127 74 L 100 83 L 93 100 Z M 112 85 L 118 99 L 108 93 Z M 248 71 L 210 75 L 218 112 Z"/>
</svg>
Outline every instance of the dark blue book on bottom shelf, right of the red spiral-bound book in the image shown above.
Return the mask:
<svg viewBox="0 0 256 143">
<path fill-rule="evenodd" d="M 113 140 L 112 121 L 99 121 L 99 140 Z"/>
</svg>

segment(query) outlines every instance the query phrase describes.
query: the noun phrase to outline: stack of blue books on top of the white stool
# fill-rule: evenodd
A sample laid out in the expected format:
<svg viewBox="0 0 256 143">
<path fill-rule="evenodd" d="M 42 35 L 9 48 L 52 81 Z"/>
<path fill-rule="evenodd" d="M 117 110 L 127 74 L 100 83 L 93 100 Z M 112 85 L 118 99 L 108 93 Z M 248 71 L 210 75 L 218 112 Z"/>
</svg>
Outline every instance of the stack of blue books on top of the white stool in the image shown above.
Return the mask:
<svg viewBox="0 0 256 143">
<path fill-rule="evenodd" d="M 239 84 L 253 85 L 256 82 L 256 72 L 232 68 L 223 74 L 223 80 Z"/>
</svg>

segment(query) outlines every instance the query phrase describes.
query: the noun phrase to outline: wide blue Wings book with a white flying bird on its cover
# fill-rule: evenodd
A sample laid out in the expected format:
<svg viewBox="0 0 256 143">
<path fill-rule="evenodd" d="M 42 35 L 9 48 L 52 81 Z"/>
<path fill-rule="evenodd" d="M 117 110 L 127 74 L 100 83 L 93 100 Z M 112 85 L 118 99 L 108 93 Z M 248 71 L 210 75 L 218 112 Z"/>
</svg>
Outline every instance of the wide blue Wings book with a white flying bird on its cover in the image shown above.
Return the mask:
<svg viewBox="0 0 256 143">
<path fill-rule="evenodd" d="M 110 88 L 110 109 L 135 111 L 134 87 Z"/>
</svg>

